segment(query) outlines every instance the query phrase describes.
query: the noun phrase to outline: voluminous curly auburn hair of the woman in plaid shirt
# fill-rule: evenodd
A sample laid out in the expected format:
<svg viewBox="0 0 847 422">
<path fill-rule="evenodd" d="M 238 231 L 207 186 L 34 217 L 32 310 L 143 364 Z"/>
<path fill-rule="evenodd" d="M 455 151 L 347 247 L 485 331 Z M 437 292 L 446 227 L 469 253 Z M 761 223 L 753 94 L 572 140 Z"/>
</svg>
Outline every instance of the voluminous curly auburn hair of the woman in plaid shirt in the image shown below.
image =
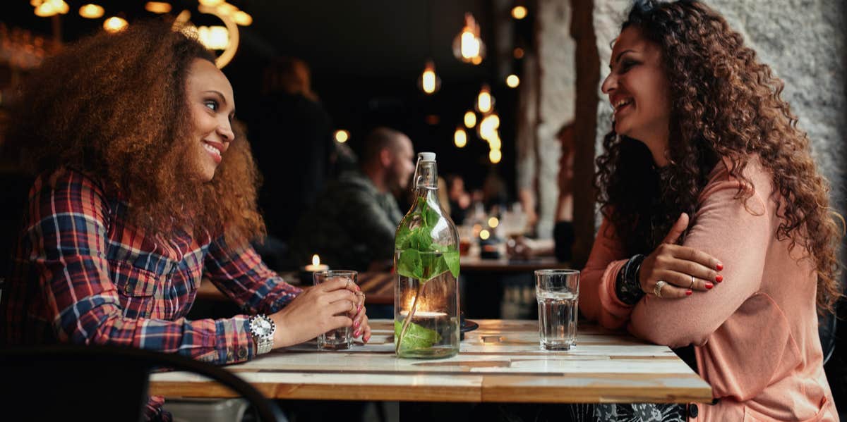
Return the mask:
<svg viewBox="0 0 847 422">
<path fill-rule="evenodd" d="M 210 182 L 190 155 L 185 80 L 214 55 L 167 20 L 134 23 L 65 47 L 28 76 L 11 108 L 8 148 L 34 174 L 76 169 L 129 203 L 129 220 L 170 237 L 264 233 L 258 173 L 241 125 Z"/>
</svg>

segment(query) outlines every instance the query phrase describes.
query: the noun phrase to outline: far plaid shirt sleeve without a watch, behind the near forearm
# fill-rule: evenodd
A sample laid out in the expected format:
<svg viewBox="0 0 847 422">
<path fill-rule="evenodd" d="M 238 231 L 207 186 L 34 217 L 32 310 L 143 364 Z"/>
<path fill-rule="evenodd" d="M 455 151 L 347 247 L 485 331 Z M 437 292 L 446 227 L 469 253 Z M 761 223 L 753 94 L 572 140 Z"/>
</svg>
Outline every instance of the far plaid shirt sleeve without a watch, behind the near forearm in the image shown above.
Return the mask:
<svg viewBox="0 0 847 422">
<path fill-rule="evenodd" d="M 204 270 L 215 286 L 250 314 L 273 314 L 302 292 L 265 266 L 252 246 L 230 248 L 224 238 L 209 245 Z"/>
</svg>

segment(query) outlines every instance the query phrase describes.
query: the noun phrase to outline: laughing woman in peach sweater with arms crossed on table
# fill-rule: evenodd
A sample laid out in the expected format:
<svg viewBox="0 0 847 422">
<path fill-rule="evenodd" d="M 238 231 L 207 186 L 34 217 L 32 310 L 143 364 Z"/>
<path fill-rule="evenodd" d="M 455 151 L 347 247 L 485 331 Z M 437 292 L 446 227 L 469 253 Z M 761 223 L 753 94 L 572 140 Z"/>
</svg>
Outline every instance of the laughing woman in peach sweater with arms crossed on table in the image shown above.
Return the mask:
<svg viewBox="0 0 847 422">
<path fill-rule="evenodd" d="M 693 348 L 714 401 L 668 419 L 837 420 L 816 311 L 839 299 L 842 234 L 783 82 L 696 1 L 636 2 L 611 59 L 579 309 Z"/>
</svg>

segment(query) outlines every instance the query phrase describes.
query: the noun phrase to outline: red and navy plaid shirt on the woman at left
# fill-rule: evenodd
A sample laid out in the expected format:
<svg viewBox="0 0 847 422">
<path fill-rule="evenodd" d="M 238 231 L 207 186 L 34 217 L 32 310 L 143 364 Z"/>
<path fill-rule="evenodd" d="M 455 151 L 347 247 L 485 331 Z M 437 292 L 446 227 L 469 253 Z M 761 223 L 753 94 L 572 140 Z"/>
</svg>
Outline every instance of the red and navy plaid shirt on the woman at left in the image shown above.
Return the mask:
<svg viewBox="0 0 847 422">
<path fill-rule="evenodd" d="M 73 170 L 37 178 L 29 200 L 0 298 L 0 341 L 115 344 L 231 364 L 256 353 L 248 316 L 186 320 L 202 277 L 248 314 L 272 314 L 301 292 L 252 247 L 145 235 L 126 222 L 125 202 Z"/>
</svg>

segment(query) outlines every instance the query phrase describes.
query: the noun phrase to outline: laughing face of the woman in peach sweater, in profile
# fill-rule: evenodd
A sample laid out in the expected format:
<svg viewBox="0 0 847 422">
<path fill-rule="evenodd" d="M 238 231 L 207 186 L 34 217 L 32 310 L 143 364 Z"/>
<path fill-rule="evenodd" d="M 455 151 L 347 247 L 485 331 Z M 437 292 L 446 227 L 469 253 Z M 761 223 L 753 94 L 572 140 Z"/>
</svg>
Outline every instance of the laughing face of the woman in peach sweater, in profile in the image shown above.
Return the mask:
<svg viewBox="0 0 847 422">
<path fill-rule="evenodd" d="M 644 142 L 664 166 L 671 107 L 661 48 L 628 26 L 615 41 L 609 68 L 602 90 L 614 109 L 615 132 Z"/>
</svg>

